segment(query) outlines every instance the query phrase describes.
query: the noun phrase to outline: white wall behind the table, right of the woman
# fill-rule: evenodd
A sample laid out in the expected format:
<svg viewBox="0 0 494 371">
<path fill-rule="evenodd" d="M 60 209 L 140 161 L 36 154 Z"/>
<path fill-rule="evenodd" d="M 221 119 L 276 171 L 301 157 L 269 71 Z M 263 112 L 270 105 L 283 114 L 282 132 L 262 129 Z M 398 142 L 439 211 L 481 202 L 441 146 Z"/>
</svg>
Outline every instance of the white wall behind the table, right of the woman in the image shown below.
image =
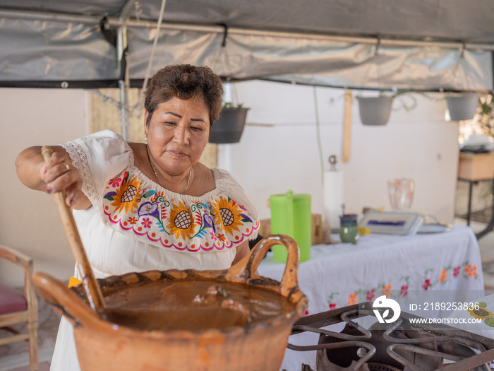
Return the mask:
<svg viewBox="0 0 494 371">
<path fill-rule="evenodd" d="M 260 212 L 270 218 L 267 199 L 289 189 L 312 195 L 313 213 L 323 213 L 323 187 L 315 126 L 314 88 L 263 81 L 236 83 L 240 102 L 250 107 L 240 143 L 219 145 L 219 167 L 232 172 Z M 315 88 L 324 169 L 331 154 L 342 158 L 344 91 Z M 359 91 L 354 91 L 354 95 Z M 414 94 L 406 112 L 396 98 L 386 126 L 364 126 L 352 106 L 351 156 L 344 172 L 346 211 L 364 206 L 390 210 L 387 179 L 415 180 L 412 209 L 452 222 L 458 163 L 458 123 L 444 119 L 440 95 Z M 263 124 L 260 126 L 257 124 Z"/>
</svg>

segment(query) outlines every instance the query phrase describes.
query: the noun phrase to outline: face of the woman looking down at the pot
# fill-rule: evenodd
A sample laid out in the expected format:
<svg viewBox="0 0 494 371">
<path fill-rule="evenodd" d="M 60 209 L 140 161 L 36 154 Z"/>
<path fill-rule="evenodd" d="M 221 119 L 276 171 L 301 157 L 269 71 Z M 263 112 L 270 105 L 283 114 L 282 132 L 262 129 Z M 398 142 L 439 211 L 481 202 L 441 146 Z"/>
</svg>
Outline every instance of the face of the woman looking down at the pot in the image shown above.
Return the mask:
<svg viewBox="0 0 494 371">
<path fill-rule="evenodd" d="M 209 110 L 202 100 L 171 98 L 157 106 L 145 131 L 155 163 L 169 175 L 179 175 L 188 172 L 204 151 L 210 134 Z"/>
</svg>

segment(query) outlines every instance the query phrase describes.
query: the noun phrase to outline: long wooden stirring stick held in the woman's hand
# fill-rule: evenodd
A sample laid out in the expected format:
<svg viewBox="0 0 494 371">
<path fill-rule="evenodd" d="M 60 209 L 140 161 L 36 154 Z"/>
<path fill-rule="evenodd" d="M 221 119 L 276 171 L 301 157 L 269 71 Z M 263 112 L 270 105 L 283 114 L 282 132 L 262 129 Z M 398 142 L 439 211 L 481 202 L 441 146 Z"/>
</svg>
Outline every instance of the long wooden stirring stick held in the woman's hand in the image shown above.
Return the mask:
<svg viewBox="0 0 494 371">
<path fill-rule="evenodd" d="M 52 148 L 49 146 L 43 146 L 41 148 L 41 154 L 44 158 L 44 162 L 47 163 L 49 158 L 52 157 Z M 94 274 L 92 273 L 91 266 L 89 264 L 88 256 L 85 253 L 83 242 L 80 240 L 79 231 L 77 229 L 76 220 L 72 215 L 72 209 L 65 203 L 66 194 L 62 190 L 56 192 L 55 202 L 59 208 L 60 218 L 64 225 L 64 230 L 68 238 L 68 242 L 71 245 L 72 254 L 76 259 L 76 264 L 80 275 L 83 277 L 83 288 L 88 297 L 89 304 L 92 310 L 100 310 L 104 308 L 103 294 L 98 285 Z"/>
</svg>

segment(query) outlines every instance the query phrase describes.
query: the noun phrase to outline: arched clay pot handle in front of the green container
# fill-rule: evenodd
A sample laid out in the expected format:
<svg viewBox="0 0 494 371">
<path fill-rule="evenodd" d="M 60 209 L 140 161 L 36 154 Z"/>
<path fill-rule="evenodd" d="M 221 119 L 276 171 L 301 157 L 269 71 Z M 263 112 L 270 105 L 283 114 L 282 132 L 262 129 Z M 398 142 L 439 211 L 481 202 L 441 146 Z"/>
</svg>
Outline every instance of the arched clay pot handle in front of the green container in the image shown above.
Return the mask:
<svg viewBox="0 0 494 371">
<path fill-rule="evenodd" d="M 232 266 L 227 273 L 229 281 L 246 282 L 258 276 L 258 267 L 265 254 L 274 245 L 287 247 L 287 265 L 285 266 L 282 282 L 278 292 L 287 297 L 291 290 L 299 287 L 297 272 L 299 270 L 300 250 L 295 240 L 287 235 L 269 235 L 260 240 L 247 257 Z"/>
</svg>

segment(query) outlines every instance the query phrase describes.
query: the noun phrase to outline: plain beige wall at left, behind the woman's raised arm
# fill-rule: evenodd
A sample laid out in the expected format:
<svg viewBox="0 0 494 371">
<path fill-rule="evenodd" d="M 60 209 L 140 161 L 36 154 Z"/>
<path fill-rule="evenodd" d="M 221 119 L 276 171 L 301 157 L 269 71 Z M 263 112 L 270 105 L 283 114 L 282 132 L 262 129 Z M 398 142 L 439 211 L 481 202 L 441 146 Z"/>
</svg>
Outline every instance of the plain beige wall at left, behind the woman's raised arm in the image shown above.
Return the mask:
<svg viewBox="0 0 494 371">
<path fill-rule="evenodd" d="M 0 244 L 34 258 L 35 271 L 61 280 L 73 274 L 74 259 L 51 196 L 20 183 L 15 160 L 24 148 L 65 143 L 88 132 L 83 90 L 0 88 Z M 0 261 L 0 281 L 23 285 L 22 271 Z"/>
</svg>

